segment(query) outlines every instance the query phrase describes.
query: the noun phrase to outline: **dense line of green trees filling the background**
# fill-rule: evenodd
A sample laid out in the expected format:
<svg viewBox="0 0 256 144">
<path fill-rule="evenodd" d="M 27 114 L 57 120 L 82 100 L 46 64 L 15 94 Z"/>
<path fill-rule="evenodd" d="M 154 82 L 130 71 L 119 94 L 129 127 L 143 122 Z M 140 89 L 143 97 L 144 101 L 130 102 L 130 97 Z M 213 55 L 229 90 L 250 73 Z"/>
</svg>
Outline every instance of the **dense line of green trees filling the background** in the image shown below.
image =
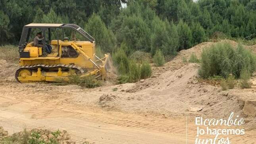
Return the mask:
<svg viewBox="0 0 256 144">
<path fill-rule="evenodd" d="M 256 37 L 256 0 L 1 0 L 0 6 L 0 44 L 17 44 L 28 23 L 75 23 L 104 52 L 125 45 L 128 55 L 173 56 L 216 33 Z"/>
</svg>

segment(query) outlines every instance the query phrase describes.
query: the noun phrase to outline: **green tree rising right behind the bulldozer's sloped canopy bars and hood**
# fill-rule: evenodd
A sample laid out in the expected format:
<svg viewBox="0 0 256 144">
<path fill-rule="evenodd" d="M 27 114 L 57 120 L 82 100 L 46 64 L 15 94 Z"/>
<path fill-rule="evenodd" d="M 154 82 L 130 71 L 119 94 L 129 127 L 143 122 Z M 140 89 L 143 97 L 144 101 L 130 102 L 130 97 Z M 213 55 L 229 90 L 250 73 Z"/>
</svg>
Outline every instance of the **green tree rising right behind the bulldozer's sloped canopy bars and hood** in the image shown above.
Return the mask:
<svg viewBox="0 0 256 144">
<path fill-rule="evenodd" d="M 88 23 L 85 24 L 85 30 L 95 38 L 96 44 L 104 52 L 112 52 L 115 47 L 115 36 L 110 29 L 107 29 L 104 22 L 97 14 L 92 14 Z"/>
</svg>

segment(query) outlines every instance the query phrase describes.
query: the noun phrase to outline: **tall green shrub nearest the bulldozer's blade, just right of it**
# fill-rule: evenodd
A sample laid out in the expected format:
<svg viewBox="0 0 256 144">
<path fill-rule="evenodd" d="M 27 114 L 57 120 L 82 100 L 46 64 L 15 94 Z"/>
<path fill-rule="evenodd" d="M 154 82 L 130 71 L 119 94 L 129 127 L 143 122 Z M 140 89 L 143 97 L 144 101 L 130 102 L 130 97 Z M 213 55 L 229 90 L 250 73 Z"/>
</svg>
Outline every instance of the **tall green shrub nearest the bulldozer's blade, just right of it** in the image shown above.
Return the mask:
<svg viewBox="0 0 256 144">
<path fill-rule="evenodd" d="M 119 74 L 125 75 L 129 73 L 129 60 L 123 49 L 117 49 L 112 58 Z"/>
</svg>

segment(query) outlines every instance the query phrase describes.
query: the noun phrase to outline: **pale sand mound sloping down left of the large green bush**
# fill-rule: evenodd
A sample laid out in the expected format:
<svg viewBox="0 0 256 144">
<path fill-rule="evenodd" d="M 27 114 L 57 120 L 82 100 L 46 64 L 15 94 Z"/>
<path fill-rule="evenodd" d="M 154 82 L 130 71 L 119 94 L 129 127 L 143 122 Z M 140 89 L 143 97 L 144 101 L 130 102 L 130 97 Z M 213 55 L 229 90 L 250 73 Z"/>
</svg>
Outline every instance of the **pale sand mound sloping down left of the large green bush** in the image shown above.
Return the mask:
<svg viewBox="0 0 256 144">
<path fill-rule="evenodd" d="M 237 42 L 232 40 L 223 41 L 237 45 Z M 200 58 L 202 50 L 212 44 L 215 43 L 203 42 L 188 50 L 182 50 L 163 67 L 153 67 L 151 78 L 132 86 L 123 84 L 120 87 L 124 89 L 123 92 L 111 92 L 117 96 L 115 101 L 112 101 L 112 106 L 120 106 L 118 109 L 123 111 L 164 113 L 169 116 L 190 114 L 226 118 L 234 112 L 248 118 L 248 121 L 252 120 L 251 116 L 244 114 L 243 108 L 246 99 L 253 99 L 253 94 L 244 94 L 245 91 L 239 87 L 221 91 L 218 85 L 200 83 L 199 64 L 183 62 L 183 57 L 189 59 L 192 53 Z M 202 110 L 189 111 L 191 108 Z"/>
</svg>

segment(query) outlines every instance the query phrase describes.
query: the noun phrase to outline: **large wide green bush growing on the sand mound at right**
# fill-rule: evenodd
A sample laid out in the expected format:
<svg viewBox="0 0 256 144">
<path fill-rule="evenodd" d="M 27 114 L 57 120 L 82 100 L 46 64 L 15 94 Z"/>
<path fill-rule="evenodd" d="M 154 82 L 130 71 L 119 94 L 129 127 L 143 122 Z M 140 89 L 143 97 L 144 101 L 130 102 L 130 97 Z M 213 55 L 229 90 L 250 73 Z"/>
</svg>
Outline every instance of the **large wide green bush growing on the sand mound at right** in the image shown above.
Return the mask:
<svg viewBox="0 0 256 144">
<path fill-rule="evenodd" d="M 201 57 L 199 75 L 203 78 L 214 75 L 227 78 L 229 74 L 239 78 L 242 69 L 250 73 L 256 69 L 255 55 L 241 44 L 233 48 L 227 42 L 218 42 L 205 48 Z"/>
</svg>

